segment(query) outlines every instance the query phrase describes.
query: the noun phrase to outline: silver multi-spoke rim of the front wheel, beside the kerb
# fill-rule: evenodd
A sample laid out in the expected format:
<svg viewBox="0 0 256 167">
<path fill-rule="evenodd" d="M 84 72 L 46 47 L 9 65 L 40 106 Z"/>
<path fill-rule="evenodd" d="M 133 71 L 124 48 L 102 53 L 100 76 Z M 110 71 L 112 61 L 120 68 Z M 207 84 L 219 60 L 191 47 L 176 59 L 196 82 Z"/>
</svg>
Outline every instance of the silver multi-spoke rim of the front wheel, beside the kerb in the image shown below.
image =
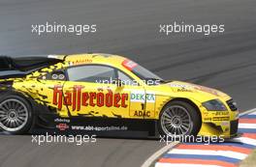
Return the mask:
<svg viewBox="0 0 256 167">
<path fill-rule="evenodd" d="M 179 105 L 171 106 L 163 112 L 161 126 L 165 134 L 169 136 L 183 136 L 193 129 L 189 112 Z"/>
</svg>

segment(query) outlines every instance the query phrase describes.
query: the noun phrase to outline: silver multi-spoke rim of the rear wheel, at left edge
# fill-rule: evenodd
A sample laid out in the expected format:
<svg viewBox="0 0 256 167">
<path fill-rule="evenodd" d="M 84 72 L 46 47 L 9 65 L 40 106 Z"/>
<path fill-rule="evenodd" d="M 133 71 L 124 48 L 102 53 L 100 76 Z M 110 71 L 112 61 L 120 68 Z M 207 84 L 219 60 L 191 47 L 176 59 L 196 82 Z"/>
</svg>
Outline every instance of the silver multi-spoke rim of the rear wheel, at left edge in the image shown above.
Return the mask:
<svg viewBox="0 0 256 167">
<path fill-rule="evenodd" d="M 0 127 L 6 131 L 20 130 L 28 121 L 28 109 L 23 102 L 11 98 L 0 103 Z"/>
</svg>

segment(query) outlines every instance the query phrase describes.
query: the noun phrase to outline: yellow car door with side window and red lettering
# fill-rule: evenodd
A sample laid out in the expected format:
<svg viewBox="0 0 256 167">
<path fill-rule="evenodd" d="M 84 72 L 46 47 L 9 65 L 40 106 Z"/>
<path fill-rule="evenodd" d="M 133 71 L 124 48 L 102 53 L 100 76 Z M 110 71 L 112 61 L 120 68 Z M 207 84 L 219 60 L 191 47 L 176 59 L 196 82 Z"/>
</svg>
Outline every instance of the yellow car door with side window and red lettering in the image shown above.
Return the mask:
<svg viewBox="0 0 256 167">
<path fill-rule="evenodd" d="M 125 118 L 129 115 L 129 93 L 113 83 L 116 70 L 105 65 L 83 65 L 67 69 L 64 103 L 71 116 Z"/>
</svg>

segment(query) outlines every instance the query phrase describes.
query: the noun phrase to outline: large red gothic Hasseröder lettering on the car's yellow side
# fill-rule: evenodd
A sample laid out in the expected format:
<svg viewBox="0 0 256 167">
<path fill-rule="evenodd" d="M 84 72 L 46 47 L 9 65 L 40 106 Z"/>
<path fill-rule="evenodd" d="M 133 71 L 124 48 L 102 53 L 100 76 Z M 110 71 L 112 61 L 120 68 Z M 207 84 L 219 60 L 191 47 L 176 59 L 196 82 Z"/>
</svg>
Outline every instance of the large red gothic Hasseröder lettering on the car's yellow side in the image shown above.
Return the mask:
<svg viewBox="0 0 256 167">
<path fill-rule="evenodd" d="M 83 92 L 83 86 L 75 85 L 72 91 L 63 91 L 61 85 L 53 88 L 52 103 L 61 110 L 63 105 L 72 106 L 72 110 L 80 111 L 81 106 L 97 106 L 97 107 L 127 107 L 128 94 L 113 94 L 108 89 L 108 93 L 102 92 Z"/>
</svg>

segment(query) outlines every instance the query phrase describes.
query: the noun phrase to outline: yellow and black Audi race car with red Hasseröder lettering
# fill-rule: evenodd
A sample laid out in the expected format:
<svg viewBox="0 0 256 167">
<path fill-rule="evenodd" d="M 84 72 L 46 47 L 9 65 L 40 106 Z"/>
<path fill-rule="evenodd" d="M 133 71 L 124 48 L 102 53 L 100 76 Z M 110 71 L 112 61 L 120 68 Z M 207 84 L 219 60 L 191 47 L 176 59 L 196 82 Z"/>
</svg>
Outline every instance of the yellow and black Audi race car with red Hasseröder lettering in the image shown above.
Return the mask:
<svg viewBox="0 0 256 167">
<path fill-rule="evenodd" d="M 231 97 L 163 80 L 121 56 L 1 56 L 0 70 L 5 133 L 237 134 L 239 111 Z"/>
</svg>

